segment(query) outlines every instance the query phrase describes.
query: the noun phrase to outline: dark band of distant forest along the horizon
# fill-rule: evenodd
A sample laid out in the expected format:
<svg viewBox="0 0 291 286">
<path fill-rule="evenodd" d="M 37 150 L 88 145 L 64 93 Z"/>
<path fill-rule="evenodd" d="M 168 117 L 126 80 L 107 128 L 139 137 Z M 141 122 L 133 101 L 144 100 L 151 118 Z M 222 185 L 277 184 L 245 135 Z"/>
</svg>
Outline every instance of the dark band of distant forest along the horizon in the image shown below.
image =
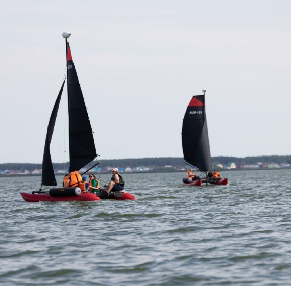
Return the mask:
<svg viewBox="0 0 291 286">
<path fill-rule="evenodd" d="M 165 157 L 165 158 L 138 158 L 138 159 L 112 159 L 112 160 L 98 160 L 93 161 L 88 164 L 85 168 L 90 168 L 95 165 L 97 162 L 100 162 L 98 167 L 165 167 L 172 166 L 175 168 L 185 167 L 185 161 L 183 158 L 177 157 Z M 245 158 L 237 158 L 237 157 L 212 157 L 213 164 L 222 164 L 226 165 L 229 162 L 234 162 L 235 164 L 256 164 L 258 162 L 262 163 L 272 163 L 276 162 L 281 164 L 283 162 L 287 162 L 291 164 L 291 155 L 288 156 L 254 156 L 254 157 L 245 157 Z M 53 167 L 55 170 L 68 170 L 69 163 L 53 163 Z M 41 169 L 41 164 L 32 164 L 32 163 L 4 163 L 0 164 L 0 170 L 29 170 L 30 172 L 34 169 Z"/>
</svg>

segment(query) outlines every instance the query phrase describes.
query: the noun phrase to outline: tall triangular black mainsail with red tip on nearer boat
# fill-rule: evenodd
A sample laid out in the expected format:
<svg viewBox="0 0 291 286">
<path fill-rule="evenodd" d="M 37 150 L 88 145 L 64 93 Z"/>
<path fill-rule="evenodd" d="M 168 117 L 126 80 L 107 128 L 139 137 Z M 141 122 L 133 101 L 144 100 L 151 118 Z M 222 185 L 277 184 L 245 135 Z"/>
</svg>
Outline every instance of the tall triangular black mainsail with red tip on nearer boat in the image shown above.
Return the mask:
<svg viewBox="0 0 291 286">
<path fill-rule="evenodd" d="M 97 156 L 92 128 L 67 42 L 70 170 L 78 171 Z"/>
</svg>

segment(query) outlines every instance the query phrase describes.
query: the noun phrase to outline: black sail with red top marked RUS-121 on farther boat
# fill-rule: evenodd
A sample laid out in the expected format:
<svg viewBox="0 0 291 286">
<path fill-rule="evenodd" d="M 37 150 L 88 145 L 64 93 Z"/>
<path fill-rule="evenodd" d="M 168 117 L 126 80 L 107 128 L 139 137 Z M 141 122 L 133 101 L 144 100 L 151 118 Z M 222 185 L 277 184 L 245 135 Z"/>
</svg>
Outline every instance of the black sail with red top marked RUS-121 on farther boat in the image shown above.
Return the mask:
<svg viewBox="0 0 291 286">
<path fill-rule="evenodd" d="M 186 162 L 200 171 L 212 171 L 204 95 L 193 96 L 187 107 L 183 119 L 182 147 Z"/>
</svg>

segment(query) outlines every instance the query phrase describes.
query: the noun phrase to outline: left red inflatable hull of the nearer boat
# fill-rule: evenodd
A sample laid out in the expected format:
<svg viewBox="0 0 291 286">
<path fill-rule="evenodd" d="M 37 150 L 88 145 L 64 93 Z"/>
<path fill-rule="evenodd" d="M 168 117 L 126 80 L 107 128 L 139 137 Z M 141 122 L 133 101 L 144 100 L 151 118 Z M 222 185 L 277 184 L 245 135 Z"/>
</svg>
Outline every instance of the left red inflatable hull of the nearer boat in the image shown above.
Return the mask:
<svg viewBox="0 0 291 286">
<path fill-rule="evenodd" d="M 40 202 L 40 201 L 96 201 L 100 200 L 98 196 L 93 193 L 84 193 L 79 196 L 67 197 L 52 197 L 50 194 L 28 194 L 20 193 L 25 201 Z"/>
</svg>

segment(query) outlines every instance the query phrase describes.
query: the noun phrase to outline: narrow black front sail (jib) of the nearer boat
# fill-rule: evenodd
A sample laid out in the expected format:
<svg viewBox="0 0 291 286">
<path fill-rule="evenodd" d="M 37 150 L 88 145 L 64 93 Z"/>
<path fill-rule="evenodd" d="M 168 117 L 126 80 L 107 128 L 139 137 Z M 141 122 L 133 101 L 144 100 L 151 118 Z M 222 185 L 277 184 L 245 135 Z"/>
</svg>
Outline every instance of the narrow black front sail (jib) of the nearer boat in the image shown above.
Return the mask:
<svg viewBox="0 0 291 286">
<path fill-rule="evenodd" d="M 48 122 L 44 151 L 43 151 L 43 159 L 42 159 L 42 172 L 41 172 L 41 185 L 43 186 L 57 186 L 57 181 L 54 173 L 54 168 L 52 164 L 51 152 L 50 152 L 50 144 L 52 141 L 52 136 L 55 128 L 56 118 L 60 106 L 60 101 L 63 93 L 65 81 L 62 84 L 61 90 L 55 102 L 50 121 Z"/>
</svg>

